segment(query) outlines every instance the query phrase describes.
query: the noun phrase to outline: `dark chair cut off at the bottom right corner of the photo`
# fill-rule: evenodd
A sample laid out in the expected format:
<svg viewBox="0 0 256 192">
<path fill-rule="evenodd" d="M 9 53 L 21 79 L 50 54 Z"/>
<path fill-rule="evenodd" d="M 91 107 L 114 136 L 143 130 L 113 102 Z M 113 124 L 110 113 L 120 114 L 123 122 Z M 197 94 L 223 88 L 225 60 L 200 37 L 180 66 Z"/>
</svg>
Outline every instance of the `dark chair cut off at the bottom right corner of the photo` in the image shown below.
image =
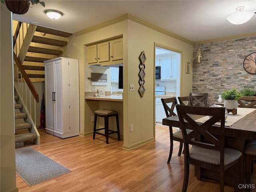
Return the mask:
<svg viewBox="0 0 256 192">
<path fill-rule="evenodd" d="M 256 160 L 256 140 L 249 140 L 245 148 L 245 183 L 249 184 L 246 186 L 246 191 L 250 191 L 251 176 L 253 172 L 254 160 Z"/>
</svg>

